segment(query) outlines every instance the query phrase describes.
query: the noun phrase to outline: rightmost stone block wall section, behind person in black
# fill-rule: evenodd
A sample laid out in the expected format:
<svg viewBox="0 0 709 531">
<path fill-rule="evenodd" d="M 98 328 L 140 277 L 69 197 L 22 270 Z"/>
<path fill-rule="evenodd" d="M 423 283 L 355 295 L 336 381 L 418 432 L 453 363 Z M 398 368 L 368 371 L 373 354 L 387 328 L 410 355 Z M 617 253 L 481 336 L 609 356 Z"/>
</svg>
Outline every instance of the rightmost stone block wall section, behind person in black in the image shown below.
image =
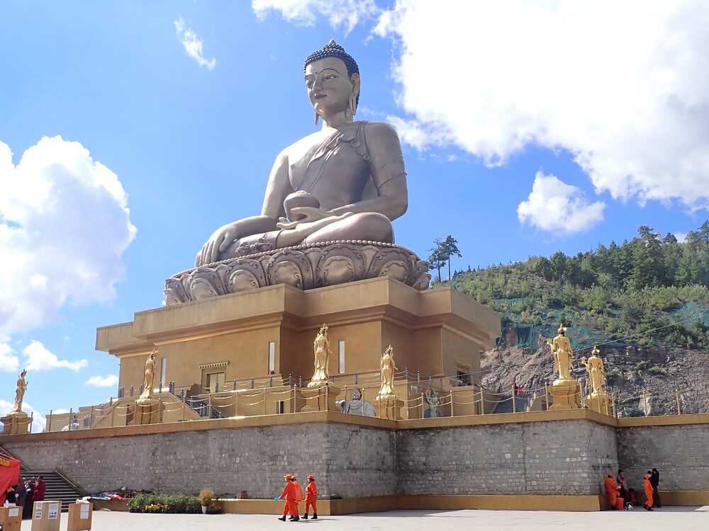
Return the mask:
<svg viewBox="0 0 709 531">
<path fill-rule="evenodd" d="M 642 491 L 642 476 L 660 472 L 661 491 L 709 491 L 709 424 L 618 429 L 620 468 L 630 487 Z"/>
</svg>

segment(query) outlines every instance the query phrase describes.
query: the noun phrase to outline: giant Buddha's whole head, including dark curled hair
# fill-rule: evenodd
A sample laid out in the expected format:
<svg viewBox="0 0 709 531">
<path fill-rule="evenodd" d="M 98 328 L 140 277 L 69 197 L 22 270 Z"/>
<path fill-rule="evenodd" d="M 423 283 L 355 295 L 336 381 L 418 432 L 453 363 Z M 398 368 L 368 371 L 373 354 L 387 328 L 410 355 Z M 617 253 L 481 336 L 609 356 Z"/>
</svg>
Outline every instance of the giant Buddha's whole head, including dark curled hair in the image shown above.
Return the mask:
<svg viewBox="0 0 709 531">
<path fill-rule="evenodd" d="M 359 67 L 354 58 L 334 40 L 308 55 L 304 65 L 308 98 L 316 115 L 344 112 L 354 117 L 359 103 Z"/>
</svg>

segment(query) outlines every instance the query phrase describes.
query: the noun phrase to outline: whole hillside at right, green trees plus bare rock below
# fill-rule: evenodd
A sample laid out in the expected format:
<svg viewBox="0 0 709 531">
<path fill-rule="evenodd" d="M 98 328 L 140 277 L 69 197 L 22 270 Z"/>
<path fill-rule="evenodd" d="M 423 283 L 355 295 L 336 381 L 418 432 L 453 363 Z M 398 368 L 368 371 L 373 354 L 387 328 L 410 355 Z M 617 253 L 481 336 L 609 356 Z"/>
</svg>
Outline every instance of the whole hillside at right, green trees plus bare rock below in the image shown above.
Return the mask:
<svg viewBox="0 0 709 531">
<path fill-rule="evenodd" d="M 608 384 L 627 395 L 628 409 L 637 411 L 632 401 L 645 389 L 656 396 L 679 389 L 687 409 L 709 407 L 699 394 L 688 398 L 709 377 L 709 222 L 682 242 L 640 227 L 622 244 L 457 272 L 451 282 L 503 315 L 501 343 L 483 360 L 491 387 L 550 381 L 542 340 L 563 322 L 578 357 L 602 345 Z M 657 399 L 653 407 L 671 404 Z"/>
</svg>

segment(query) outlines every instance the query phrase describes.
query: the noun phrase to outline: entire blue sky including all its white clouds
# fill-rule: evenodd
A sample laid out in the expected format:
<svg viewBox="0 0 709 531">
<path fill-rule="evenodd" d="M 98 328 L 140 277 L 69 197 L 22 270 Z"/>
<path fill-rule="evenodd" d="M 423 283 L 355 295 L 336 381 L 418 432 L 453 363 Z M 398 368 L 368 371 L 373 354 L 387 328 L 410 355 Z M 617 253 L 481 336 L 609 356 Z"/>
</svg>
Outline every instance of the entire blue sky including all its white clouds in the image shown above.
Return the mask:
<svg viewBox="0 0 709 531">
<path fill-rule="evenodd" d="M 709 5 L 254 0 L 0 5 L 0 413 L 33 429 L 116 396 L 96 327 L 160 307 L 221 225 L 260 212 L 315 130 L 303 59 L 359 63 L 398 130 L 422 258 L 577 253 L 709 217 Z M 177 382 L 189 384 L 191 382 Z"/>
</svg>

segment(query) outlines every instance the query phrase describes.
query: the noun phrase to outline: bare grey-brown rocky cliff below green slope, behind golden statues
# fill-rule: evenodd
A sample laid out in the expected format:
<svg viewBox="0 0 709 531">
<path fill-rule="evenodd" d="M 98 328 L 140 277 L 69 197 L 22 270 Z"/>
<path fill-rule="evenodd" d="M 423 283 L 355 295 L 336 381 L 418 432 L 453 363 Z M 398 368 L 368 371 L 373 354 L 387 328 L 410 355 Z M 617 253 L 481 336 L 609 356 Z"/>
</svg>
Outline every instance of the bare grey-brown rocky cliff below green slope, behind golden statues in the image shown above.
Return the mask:
<svg viewBox="0 0 709 531">
<path fill-rule="evenodd" d="M 553 355 L 545 339 L 535 338 L 537 348 L 520 347 L 517 332 L 510 327 L 496 348 L 481 357 L 483 384 L 510 392 L 513 385 L 544 394 L 554 381 Z M 574 353 L 574 376 L 586 380 L 581 358 L 590 351 Z M 682 413 L 709 412 L 709 355 L 700 350 L 666 348 L 603 348 L 608 392 L 616 397 L 619 416 L 677 413 L 676 391 Z"/>
</svg>

